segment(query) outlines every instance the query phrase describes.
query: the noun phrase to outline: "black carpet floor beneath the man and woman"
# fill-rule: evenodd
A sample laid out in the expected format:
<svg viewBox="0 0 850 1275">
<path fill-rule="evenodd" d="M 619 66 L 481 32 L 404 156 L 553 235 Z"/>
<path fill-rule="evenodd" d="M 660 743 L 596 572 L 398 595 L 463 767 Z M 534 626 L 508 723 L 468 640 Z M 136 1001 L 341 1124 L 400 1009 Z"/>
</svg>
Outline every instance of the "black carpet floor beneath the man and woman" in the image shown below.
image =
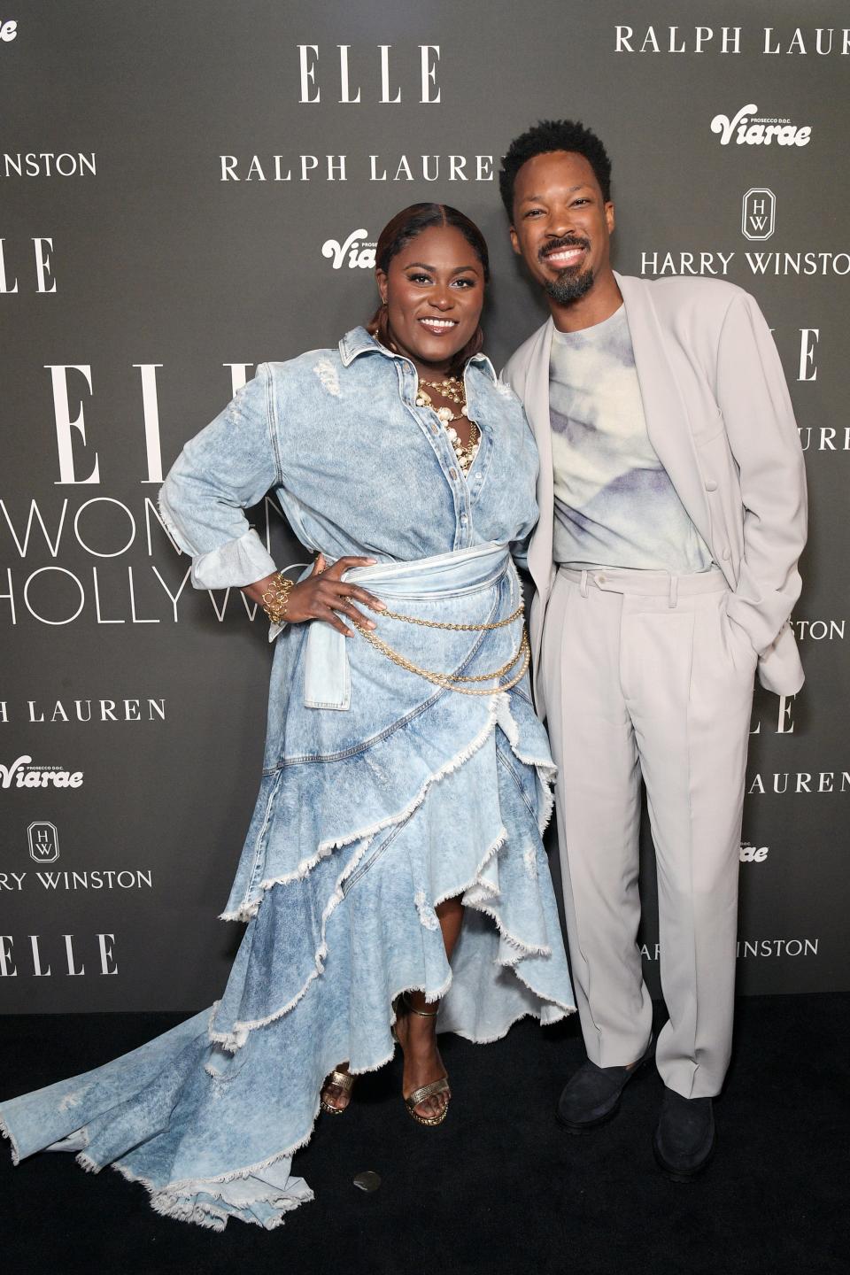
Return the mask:
<svg viewBox="0 0 850 1275">
<path fill-rule="evenodd" d="M 1 1091 L 85 1071 L 178 1017 L 6 1017 Z M 359 1080 L 352 1108 L 320 1118 L 296 1162 L 316 1200 L 270 1233 L 159 1218 L 141 1187 L 108 1169 L 92 1177 L 69 1155 L 13 1169 L 3 1144 L 0 1260 L 8 1275 L 850 1271 L 849 1028 L 850 996 L 740 1001 L 717 1151 L 688 1184 L 652 1160 L 654 1068 L 604 1128 L 575 1137 L 556 1123 L 559 1089 L 584 1057 L 575 1017 L 548 1030 L 524 1021 L 486 1047 L 442 1038 L 454 1099 L 436 1130 L 405 1113 L 400 1061 Z M 363 1169 L 381 1176 L 372 1195 L 352 1184 Z"/>
</svg>

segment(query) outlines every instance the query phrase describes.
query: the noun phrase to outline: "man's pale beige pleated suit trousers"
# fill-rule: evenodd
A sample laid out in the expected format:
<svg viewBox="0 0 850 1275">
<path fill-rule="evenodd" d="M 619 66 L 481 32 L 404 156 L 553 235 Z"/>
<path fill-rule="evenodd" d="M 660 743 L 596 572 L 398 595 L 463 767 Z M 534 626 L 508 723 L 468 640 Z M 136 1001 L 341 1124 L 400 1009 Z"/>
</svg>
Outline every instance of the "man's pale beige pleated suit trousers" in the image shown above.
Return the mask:
<svg viewBox="0 0 850 1275">
<path fill-rule="evenodd" d="M 540 657 L 567 937 L 587 1057 L 626 1066 L 652 1006 L 637 947 L 641 776 L 655 843 L 664 1084 L 719 1093 L 729 1063 L 756 652 L 719 571 L 558 571 Z"/>
</svg>

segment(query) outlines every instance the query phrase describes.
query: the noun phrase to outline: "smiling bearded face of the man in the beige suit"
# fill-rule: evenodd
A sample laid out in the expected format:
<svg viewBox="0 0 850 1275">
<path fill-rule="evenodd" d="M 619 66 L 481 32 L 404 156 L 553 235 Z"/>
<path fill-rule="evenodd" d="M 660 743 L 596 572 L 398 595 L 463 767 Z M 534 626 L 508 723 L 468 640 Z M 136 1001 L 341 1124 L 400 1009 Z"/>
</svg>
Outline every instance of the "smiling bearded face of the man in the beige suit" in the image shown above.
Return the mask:
<svg viewBox="0 0 850 1275">
<path fill-rule="evenodd" d="M 517 172 L 511 244 L 556 305 L 584 297 L 610 270 L 613 228 L 614 205 L 584 156 L 551 150 Z"/>
</svg>

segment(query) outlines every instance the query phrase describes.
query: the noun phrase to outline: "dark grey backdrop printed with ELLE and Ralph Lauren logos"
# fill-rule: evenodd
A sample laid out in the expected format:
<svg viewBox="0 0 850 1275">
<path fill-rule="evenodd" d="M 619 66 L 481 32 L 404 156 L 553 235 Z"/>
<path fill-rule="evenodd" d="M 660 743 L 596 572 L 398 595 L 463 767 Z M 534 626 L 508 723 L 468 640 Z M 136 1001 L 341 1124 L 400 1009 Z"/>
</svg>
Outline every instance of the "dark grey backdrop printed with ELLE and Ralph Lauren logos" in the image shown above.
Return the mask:
<svg viewBox="0 0 850 1275">
<path fill-rule="evenodd" d="M 807 683 L 756 696 L 739 987 L 847 988 L 846 22 L 800 0 L 4 6 L 0 1012 L 220 993 L 268 626 L 192 590 L 159 482 L 259 362 L 367 319 L 378 231 L 415 200 L 487 235 L 501 366 L 544 311 L 500 156 L 553 116 L 610 152 L 621 272 L 731 280 L 774 328 L 810 486 Z M 251 516 L 303 561 L 271 500 Z"/>
</svg>

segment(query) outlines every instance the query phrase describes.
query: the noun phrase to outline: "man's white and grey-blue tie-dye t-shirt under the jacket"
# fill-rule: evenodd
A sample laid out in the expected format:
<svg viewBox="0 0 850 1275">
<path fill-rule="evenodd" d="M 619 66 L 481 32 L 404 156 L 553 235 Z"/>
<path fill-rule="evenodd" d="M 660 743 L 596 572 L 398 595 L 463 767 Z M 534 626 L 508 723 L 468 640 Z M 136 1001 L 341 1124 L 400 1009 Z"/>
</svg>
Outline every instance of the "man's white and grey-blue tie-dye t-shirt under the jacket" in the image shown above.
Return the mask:
<svg viewBox="0 0 850 1275">
<path fill-rule="evenodd" d="M 646 432 L 621 306 L 581 332 L 554 332 L 549 363 L 554 561 L 689 574 L 711 566 Z"/>
</svg>

